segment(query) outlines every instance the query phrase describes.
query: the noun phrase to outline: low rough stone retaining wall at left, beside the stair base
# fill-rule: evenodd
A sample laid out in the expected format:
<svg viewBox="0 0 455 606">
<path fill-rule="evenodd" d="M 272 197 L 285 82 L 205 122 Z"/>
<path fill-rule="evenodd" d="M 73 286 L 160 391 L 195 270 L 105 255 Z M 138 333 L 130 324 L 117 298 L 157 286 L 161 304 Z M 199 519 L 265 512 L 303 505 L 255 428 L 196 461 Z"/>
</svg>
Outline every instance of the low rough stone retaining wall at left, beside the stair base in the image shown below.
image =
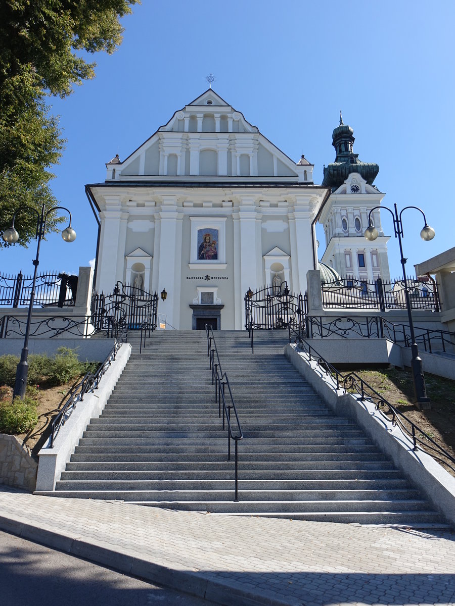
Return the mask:
<svg viewBox="0 0 455 606">
<path fill-rule="evenodd" d="M 0 433 L 0 484 L 33 492 L 38 462 L 16 436 Z"/>
</svg>

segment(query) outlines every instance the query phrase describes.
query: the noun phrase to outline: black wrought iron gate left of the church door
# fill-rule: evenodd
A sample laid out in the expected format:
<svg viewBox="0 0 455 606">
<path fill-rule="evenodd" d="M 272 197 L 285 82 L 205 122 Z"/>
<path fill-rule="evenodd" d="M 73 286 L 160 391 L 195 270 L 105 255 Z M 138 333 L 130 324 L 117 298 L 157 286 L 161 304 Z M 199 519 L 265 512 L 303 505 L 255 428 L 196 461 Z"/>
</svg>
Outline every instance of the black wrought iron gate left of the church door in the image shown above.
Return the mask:
<svg viewBox="0 0 455 606">
<path fill-rule="evenodd" d="M 97 330 L 157 328 L 158 295 L 142 288 L 117 282 L 112 293 L 96 294 L 92 304 L 92 323 Z"/>
</svg>

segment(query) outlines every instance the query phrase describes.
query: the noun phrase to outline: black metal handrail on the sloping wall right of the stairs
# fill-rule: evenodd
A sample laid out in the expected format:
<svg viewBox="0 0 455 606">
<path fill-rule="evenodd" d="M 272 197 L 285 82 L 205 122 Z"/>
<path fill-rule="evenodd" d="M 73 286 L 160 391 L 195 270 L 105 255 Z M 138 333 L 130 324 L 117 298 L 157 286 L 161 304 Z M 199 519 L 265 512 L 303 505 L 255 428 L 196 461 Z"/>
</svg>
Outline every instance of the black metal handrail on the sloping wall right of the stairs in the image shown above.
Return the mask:
<svg viewBox="0 0 455 606">
<path fill-rule="evenodd" d="M 398 425 L 403 433 L 412 439 L 414 451 L 420 448 L 420 450 L 426 452 L 426 454 L 430 454 L 436 461 L 444 463 L 450 467 L 451 470 L 455 471 L 454 456 L 440 447 L 439 444 L 436 444 L 423 429 L 408 419 L 408 417 L 395 408 L 393 404 L 383 398 L 382 395 L 357 375 L 357 373 L 351 372 L 343 375 L 343 373 L 340 373 L 340 371 L 332 366 L 330 362 L 326 361 L 326 359 L 323 358 L 305 338 L 302 338 L 297 331 L 292 331 L 292 334 L 295 336 L 295 344 L 297 347 L 308 354 L 310 361 L 314 359 L 318 367 L 325 372 L 326 376 L 331 376 L 332 379 L 334 379 L 337 384 L 337 389 L 343 389 L 344 393 L 347 393 L 349 390 L 351 393 L 351 390 L 353 390 L 354 387 L 357 388 L 357 390 L 360 391 L 360 400 L 366 399 L 371 401 L 374 404 L 375 410 L 377 410 L 383 418 L 391 421 L 394 427 Z M 369 393 L 367 393 L 367 391 Z M 422 438 L 425 439 L 425 441 L 423 441 Z M 428 442 L 430 442 L 430 444 L 428 444 Z"/>
</svg>

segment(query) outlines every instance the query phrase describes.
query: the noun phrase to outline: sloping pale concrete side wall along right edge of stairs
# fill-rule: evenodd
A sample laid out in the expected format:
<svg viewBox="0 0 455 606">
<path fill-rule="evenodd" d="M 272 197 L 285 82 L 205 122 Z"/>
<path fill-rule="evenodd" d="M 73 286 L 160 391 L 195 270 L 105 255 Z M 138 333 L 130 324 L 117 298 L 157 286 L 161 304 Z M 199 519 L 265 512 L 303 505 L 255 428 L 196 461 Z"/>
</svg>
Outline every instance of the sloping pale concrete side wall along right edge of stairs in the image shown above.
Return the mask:
<svg viewBox="0 0 455 606">
<path fill-rule="evenodd" d="M 295 345 L 286 345 L 285 355 L 325 399 L 336 415 L 354 419 L 378 447 L 393 459 L 394 464 L 425 494 L 436 510 L 451 524 L 455 524 L 455 478 L 422 450 L 413 451 L 413 443 L 400 430 L 393 427 L 375 410 L 374 404 L 361 401 L 358 396 L 343 394 L 335 381 L 325 375 L 317 362 L 309 361 L 308 355 Z"/>
</svg>

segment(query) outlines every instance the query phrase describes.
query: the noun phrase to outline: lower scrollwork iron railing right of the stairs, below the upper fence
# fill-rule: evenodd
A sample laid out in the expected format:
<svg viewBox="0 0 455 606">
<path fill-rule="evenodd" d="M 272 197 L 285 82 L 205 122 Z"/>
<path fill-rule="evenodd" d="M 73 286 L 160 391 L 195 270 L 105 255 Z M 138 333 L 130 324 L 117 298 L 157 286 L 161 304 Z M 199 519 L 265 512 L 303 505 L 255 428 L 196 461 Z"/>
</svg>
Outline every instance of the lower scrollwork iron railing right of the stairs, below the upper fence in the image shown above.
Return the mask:
<svg viewBox="0 0 455 606">
<path fill-rule="evenodd" d="M 290 334 L 290 333 L 289 333 Z M 305 332 L 298 334 L 308 339 L 389 339 L 403 347 L 411 347 L 409 324 L 389 322 L 381 316 L 306 316 Z M 436 328 L 414 326 L 414 336 L 419 348 L 428 353 L 442 351 L 455 352 L 455 333 Z"/>
</svg>

